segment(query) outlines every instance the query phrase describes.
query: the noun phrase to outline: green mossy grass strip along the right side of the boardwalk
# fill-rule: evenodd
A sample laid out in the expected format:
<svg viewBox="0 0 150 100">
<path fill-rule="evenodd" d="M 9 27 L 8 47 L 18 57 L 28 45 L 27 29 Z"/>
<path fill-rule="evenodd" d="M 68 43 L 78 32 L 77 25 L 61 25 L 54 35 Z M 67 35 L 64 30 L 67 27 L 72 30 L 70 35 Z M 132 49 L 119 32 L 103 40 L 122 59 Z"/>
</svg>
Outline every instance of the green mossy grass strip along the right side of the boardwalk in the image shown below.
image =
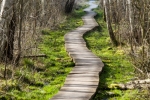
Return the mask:
<svg viewBox="0 0 150 100">
<path fill-rule="evenodd" d="M 121 47 L 112 46 L 102 11 L 97 9 L 96 12 L 98 12 L 96 19 L 100 28 L 85 35 L 89 49 L 105 64 L 94 100 L 133 100 L 137 90 L 111 89 L 117 83 L 131 81 L 134 78 L 134 68 Z"/>
</svg>

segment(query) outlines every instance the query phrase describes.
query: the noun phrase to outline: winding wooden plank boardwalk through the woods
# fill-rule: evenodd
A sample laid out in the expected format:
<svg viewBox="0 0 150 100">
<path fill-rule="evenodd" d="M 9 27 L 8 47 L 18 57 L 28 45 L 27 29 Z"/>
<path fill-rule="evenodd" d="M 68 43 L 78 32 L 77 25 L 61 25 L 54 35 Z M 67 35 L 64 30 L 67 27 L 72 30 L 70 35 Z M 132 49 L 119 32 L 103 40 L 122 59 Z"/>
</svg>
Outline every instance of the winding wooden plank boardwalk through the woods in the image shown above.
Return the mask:
<svg viewBox="0 0 150 100">
<path fill-rule="evenodd" d="M 75 62 L 75 67 L 67 76 L 64 86 L 50 100 L 92 100 L 99 83 L 99 72 L 104 66 L 101 59 L 95 56 L 87 47 L 83 35 L 97 27 L 92 11 L 97 5 L 89 1 L 87 14 L 82 17 L 84 25 L 65 35 L 65 47 Z"/>
</svg>

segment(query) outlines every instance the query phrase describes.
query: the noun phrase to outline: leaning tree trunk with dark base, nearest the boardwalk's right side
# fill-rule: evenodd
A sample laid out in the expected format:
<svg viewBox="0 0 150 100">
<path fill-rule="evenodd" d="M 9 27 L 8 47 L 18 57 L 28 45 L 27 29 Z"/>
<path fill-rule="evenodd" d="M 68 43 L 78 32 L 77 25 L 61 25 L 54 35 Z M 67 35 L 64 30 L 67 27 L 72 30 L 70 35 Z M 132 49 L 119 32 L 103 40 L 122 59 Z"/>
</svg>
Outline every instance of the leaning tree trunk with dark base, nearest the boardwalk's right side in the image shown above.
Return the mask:
<svg viewBox="0 0 150 100">
<path fill-rule="evenodd" d="M 111 42 L 113 43 L 114 46 L 118 46 L 118 42 L 116 40 L 116 37 L 114 35 L 113 29 L 111 26 L 109 0 L 104 0 L 104 7 L 105 7 L 105 16 L 106 16 L 107 28 L 109 31 Z"/>
</svg>

